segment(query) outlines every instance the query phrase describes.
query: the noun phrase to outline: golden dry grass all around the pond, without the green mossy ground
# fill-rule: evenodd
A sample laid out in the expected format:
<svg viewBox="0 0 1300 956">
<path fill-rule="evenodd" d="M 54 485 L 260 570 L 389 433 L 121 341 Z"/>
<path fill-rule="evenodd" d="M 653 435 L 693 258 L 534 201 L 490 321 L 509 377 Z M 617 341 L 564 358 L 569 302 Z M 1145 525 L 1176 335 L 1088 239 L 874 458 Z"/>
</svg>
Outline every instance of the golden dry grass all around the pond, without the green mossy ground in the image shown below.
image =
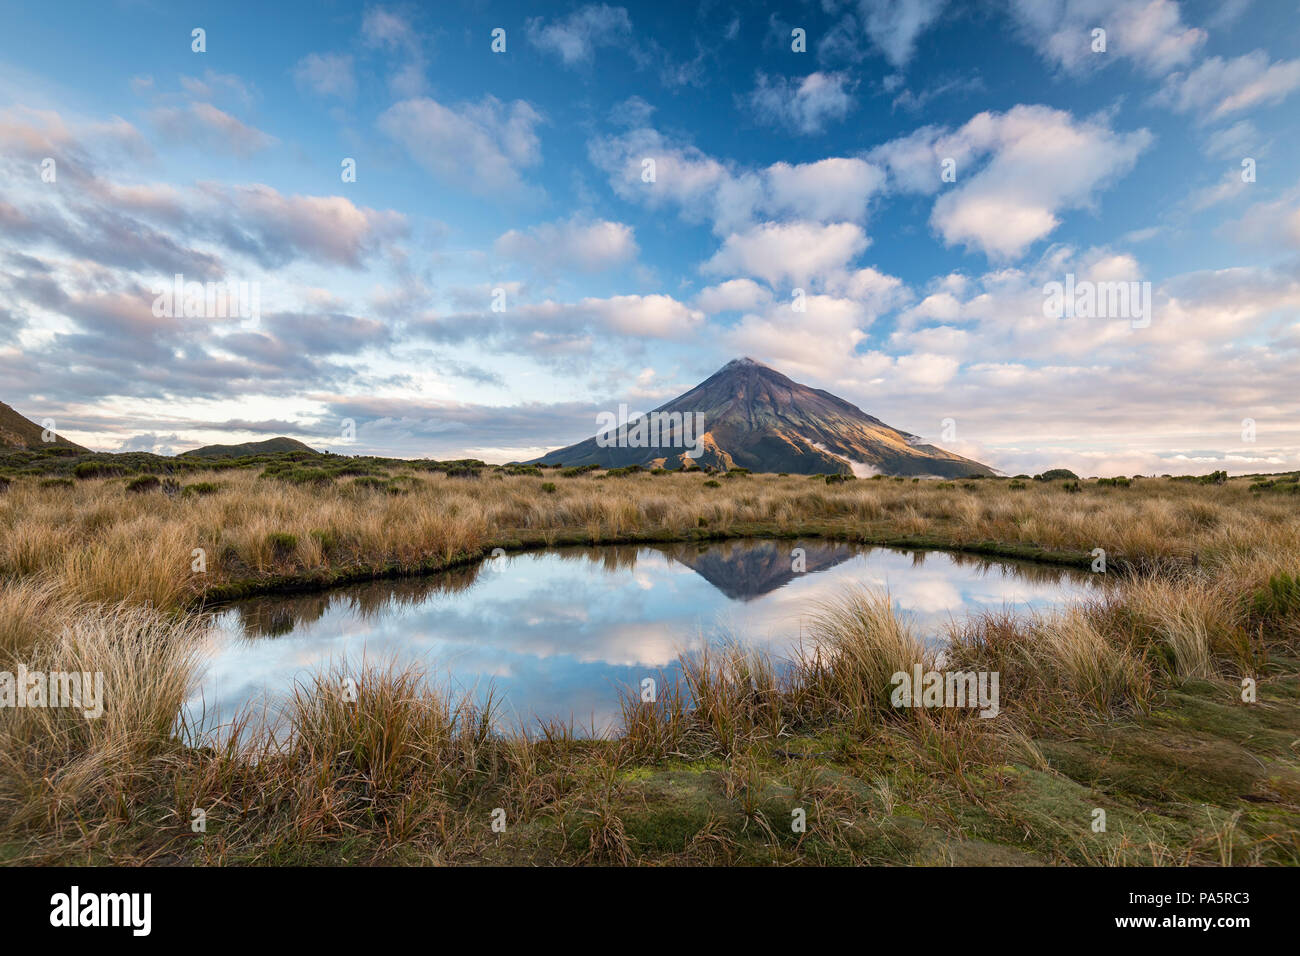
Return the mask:
<svg viewBox="0 0 1300 956">
<path fill-rule="evenodd" d="M 1148 710 L 1184 682 L 1260 676 L 1270 653 L 1294 657 L 1300 637 L 1295 609 L 1257 600 L 1274 575 L 1300 571 L 1300 510 L 1295 497 L 1251 494 L 1242 481 L 1144 480 L 1066 494 L 988 480 L 827 486 L 754 476 L 714 489 L 699 475 L 585 476 L 559 479 L 545 494 L 536 477 L 428 476 L 400 496 L 346 484 L 308 490 L 252 471 L 225 472 L 220 483 L 208 497 L 133 496 L 113 480 L 73 489 L 20 480 L 0 494 L 0 667 L 101 671 L 110 692 L 100 721 L 0 710 L 0 848 L 21 845 L 17 858 L 170 858 L 177 832 L 188 832 L 192 809 L 204 806 L 238 823 L 185 851 L 188 860 L 302 860 L 313 847 L 364 836 L 385 855 L 406 848 L 455 861 L 486 852 L 482 823 L 504 809 L 512 825 L 559 813 L 563 847 L 572 840 L 582 860 L 627 862 L 632 810 L 620 774 L 724 756 L 720 782 L 742 810 L 742 830 L 771 834 L 754 748 L 794 735 L 838 734 L 850 756 L 888 741 L 894 773 L 905 773 L 872 778 L 872 792 L 888 795 L 881 805 L 892 806 L 907 779 L 924 779 L 930 799 L 997 817 L 988 767 L 1014 760 L 1045 773 L 1035 728 L 1082 734 L 1088 721 Z M 177 739 L 203 637 L 202 619 L 186 609 L 214 588 L 430 568 L 572 535 L 809 531 L 1072 554 L 1104 548 L 1113 568 L 1156 574 L 1130 575 L 1066 613 L 959 623 L 949 659 L 1002 674 L 1002 722 L 893 711 L 889 676 L 935 659 L 884 596 L 858 592 L 815 609 L 810 653 L 789 666 L 738 649 L 689 658 L 684 687 L 649 704 L 625 701 L 614 741 L 578 740 L 555 724 L 526 739 L 497 735 L 490 704 L 452 702 L 420 674 L 385 669 L 352 671 L 355 700 L 339 695 L 339 672 L 299 688 L 285 737 L 246 717 L 205 747 Z M 205 571 L 191 570 L 195 548 L 207 554 Z M 790 779 L 810 795 L 814 819 L 883 813 L 815 774 Z M 569 822 L 556 809 L 564 806 Z M 740 843 L 710 816 L 690 847 L 701 858 L 728 858 Z M 848 847 L 841 836 L 829 845 Z"/>
</svg>

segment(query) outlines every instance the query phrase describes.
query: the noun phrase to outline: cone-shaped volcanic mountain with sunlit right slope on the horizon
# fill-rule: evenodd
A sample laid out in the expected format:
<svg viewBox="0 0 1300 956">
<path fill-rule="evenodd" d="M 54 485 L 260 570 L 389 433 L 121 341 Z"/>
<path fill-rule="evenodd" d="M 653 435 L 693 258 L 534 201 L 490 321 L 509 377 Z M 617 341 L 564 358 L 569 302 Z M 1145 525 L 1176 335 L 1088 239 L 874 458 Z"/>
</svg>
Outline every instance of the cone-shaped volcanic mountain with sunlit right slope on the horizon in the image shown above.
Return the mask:
<svg viewBox="0 0 1300 956">
<path fill-rule="evenodd" d="M 676 419 L 663 415 L 689 415 Z M 788 378 L 762 362 L 733 359 L 699 385 L 650 412 L 670 423 L 671 441 L 658 447 L 633 447 L 641 438 L 636 420 L 577 445 L 547 453 L 530 464 L 597 464 L 619 468 L 629 464 L 680 468 L 692 460 L 685 450 L 698 446 L 694 463 L 706 467 L 790 472 L 794 475 L 932 475 L 962 477 L 992 475 L 988 466 L 954 455 L 890 428 L 855 405 L 822 389 Z M 690 433 L 685 421 L 702 421 L 702 436 Z M 604 431 L 604 429 L 602 429 Z M 644 431 L 644 429 L 642 429 Z M 607 445 L 610 440 L 615 446 Z M 685 438 L 685 441 L 684 441 Z"/>
</svg>

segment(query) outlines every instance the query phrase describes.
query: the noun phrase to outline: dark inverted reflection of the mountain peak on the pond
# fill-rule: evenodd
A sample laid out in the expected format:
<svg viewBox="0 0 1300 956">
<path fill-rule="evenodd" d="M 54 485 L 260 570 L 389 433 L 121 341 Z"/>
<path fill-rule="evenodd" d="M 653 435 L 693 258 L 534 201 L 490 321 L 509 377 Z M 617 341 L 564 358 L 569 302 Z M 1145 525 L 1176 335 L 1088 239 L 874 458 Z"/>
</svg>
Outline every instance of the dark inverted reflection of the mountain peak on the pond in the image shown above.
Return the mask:
<svg viewBox="0 0 1300 956">
<path fill-rule="evenodd" d="M 803 549 L 803 570 L 794 570 L 796 548 Z M 685 564 L 733 601 L 753 601 L 794 580 L 797 574 L 826 571 L 862 548 L 846 541 L 723 541 L 708 545 L 658 548 Z"/>
</svg>

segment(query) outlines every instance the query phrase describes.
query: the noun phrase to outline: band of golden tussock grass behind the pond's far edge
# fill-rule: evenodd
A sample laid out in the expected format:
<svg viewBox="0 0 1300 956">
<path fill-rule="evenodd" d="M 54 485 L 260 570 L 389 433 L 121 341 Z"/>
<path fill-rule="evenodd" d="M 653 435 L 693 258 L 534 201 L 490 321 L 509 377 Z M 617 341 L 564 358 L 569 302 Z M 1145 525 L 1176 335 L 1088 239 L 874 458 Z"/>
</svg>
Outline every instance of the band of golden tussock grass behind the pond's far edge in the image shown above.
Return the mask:
<svg viewBox="0 0 1300 956">
<path fill-rule="evenodd" d="M 1249 483 L 1200 485 L 1144 479 L 1132 488 L 1052 483 L 1011 493 L 1005 481 L 941 488 L 936 481 L 845 481 L 809 486 L 802 476 L 754 475 L 707 486 L 701 473 L 584 472 L 563 481 L 500 472 L 489 479 L 412 476 L 377 466 L 363 477 L 400 494 L 359 494 L 222 472 L 220 494 L 133 494 L 121 479 L 87 477 L 44 488 L 18 477 L 0 496 L 0 578 L 49 575 L 69 596 L 177 607 L 231 585 L 282 578 L 430 570 L 526 538 L 592 542 L 630 535 L 660 540 L 710 535 L 800 533 L 816 528 L 862 540 L 909 536 L 935 544 L 1083 555 L 1105 548 L 1139 568 L 1245 561 L 1296 549 L 1300 518 L 1290 497 L 1251 494 Z M 543 493 L 543 484 L 555 490 Z M 277 548 L 276 540 L 294 540 Z M 326 546 L 328 545 L 328 546 Z M 203 549 L 205 570 L 192 568 Z M 1278 568 L 1273 568 L 1277 571 Z M 1290 566 L 1300 571 L 1300 561 Z"/>
</svg>

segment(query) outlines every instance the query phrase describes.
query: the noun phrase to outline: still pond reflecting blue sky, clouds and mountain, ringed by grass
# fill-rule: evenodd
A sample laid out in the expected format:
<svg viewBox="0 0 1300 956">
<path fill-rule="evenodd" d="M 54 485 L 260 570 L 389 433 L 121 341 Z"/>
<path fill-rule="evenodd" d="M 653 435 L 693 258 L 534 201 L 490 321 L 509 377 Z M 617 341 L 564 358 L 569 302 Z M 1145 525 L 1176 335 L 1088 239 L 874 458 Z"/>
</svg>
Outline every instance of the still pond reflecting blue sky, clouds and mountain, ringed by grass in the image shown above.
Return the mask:
<svg viewBox="0 0 1300 956">
<path fill-rule="evenodd" d="M 187 709 L 207 726 L 246 706 L 273 714 L 316 670 L 415 662 L 458 697 L 490 691 L 504 727 L 559 718 L 599 731 L 618 717 L 620 687 L 672 680 L 680 653 L 702 641 L 788 657 L 814 605 L 852 584 L 888 589 L 928 641 L 970 613 L 1045 610 L 1096 587 L 1079 571 L 818 540 L 556 548 L 216 609 Z"/>
</svg>

